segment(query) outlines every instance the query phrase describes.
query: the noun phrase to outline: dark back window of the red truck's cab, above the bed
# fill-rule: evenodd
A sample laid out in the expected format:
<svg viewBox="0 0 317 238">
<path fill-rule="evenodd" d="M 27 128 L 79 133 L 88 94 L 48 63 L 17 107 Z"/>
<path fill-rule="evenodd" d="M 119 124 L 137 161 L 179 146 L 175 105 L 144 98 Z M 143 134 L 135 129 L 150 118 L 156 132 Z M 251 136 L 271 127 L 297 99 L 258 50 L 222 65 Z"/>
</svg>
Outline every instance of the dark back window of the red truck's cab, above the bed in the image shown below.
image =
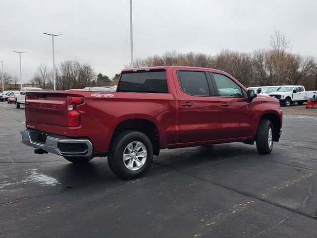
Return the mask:
<svg viewBox="0 0 317 238">
<path fill-rule="evenodd" d="M 166 71 L 123 73 L 117 92 L 168 93 Z"/>
</svg>

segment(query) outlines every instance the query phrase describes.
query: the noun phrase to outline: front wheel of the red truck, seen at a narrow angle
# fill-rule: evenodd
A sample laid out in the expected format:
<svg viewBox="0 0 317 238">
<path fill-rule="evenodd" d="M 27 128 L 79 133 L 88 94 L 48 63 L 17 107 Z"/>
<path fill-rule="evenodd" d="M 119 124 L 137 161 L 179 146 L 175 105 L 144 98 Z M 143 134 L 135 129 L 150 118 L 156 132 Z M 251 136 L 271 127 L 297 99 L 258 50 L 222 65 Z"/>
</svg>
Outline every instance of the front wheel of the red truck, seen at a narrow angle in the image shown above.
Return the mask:
<svg viewBox="0 0 317 238">
<path fill-rule="evenodd" d="M 269 144 L 269 129 L 271 130 L 271 142 Z M 260 154 L 269 154 L 273 148 L 273 125 L 268 119 L 260 120 L 257 132 L 257 149 Z"/>
</svg>

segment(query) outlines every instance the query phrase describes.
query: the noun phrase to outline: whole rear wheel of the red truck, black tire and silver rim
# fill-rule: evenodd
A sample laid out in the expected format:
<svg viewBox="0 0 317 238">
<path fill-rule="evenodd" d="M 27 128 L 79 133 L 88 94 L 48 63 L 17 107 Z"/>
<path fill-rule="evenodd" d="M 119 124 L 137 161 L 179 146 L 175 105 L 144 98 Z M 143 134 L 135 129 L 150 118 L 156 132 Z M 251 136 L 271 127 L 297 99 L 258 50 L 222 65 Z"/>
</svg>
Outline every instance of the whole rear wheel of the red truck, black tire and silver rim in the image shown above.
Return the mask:
<svg viewBox="0 0 317 238">
<path fill-rule="evenodd" d="M 108 164 L 116 176 L 122 179 L 137 179 L 150 168 L 153 160 L 153 145 L 148 136 L 139 131 L 125 131 L 112 141 Z"/>
</svg>

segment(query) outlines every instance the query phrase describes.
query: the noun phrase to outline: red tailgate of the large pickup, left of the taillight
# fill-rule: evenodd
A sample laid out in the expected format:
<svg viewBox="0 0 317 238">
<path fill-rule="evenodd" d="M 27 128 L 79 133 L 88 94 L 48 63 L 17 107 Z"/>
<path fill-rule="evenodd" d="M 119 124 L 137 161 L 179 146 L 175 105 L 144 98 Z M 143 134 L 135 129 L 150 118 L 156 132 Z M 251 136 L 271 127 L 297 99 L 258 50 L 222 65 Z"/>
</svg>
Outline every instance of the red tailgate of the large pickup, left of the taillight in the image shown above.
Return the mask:
<svg viewBox="0 0 317 238">
<path fill-rule="evenodd" d="M 65 92 L 28 92 L 25 96 L 26 123 L 36 122 L 67 127 Z"/>
</svg>

